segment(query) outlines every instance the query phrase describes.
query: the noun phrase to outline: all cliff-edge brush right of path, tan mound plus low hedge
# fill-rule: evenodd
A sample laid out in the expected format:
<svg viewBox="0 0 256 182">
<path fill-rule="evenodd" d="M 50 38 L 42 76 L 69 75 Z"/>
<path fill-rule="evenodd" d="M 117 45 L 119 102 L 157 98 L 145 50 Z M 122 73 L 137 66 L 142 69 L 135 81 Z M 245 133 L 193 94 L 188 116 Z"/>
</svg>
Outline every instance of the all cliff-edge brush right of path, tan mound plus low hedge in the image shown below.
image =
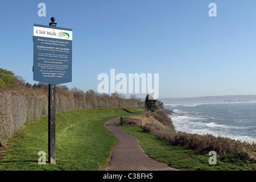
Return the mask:
<svg viewBox="0 0 256 182">
<path fill-rule="evenodd" d="M 222 158 L 229 160 L 251 160 L 256 162 L 256 144 L 241 142 L 225 137 L 214 137 L 211 134 L 187 134 L 177 133 L 172 125 L 171 119 L 164 110 L 157 110 L 155 113 L 147 113 L 142 118 L 146 123 L 144 130 L 148 133 L 158 135 L 167 142 L 195 150 L 200 154 L 208 154 L 210 151 L 217 152 Z M 232 159 L 233 158 L 233 159 Z"/>
</svg>

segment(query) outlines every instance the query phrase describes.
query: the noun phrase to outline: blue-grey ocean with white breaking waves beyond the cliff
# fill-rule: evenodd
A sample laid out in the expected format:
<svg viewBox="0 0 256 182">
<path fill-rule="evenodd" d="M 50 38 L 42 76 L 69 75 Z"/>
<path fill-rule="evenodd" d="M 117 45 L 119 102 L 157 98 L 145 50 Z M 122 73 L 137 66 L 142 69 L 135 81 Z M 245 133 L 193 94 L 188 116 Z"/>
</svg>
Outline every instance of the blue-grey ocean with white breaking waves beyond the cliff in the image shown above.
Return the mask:
<svg viewBox="0 0 256 182">
<path fill-rule="evenodd" d="M 167 104 L 176 131 L 256 143 L 256 103 Z"/>
</svg>

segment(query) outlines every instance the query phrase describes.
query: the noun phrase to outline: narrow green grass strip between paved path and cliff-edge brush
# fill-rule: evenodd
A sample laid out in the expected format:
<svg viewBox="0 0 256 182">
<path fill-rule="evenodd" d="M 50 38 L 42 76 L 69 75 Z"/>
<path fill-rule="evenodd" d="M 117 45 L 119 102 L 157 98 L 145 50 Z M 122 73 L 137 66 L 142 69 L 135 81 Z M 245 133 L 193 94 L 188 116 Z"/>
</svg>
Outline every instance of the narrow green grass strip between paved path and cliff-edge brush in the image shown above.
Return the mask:
<svg viewBox="0 0 256 182">
<path fill-rule="evenodd" d="M 234 165 L 223 162 L 217 155 L 217 164 L 210 165 L 208 154 L 196 154 L 185 147 L 174 146 L 153 134 L 146 133 L 140 127 L 119 126 L 120 129 L 139 140 L 142 149 L 153 159 L 166 163 L 179 170 L 192 171 L 248 171 L 256 170 L 253 165 Z"/>
</svg>

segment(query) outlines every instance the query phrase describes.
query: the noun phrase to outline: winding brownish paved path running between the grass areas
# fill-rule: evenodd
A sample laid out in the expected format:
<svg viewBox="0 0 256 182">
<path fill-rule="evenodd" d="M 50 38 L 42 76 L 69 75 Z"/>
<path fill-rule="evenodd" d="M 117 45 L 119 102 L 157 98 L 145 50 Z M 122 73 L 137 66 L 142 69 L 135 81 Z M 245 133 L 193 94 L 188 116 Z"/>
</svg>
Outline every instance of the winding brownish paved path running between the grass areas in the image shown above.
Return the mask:
<svg viewBox="0 0 256 182">
<path fill-rule="evenodd" d="M 137 139 L 118 129 L 115 121 L 119 118 L 110 119 L 104 124 L 105 128 L 118 139 L 105 171 L 177 171 L 175 168 L 151 159 L 139 146 Z"/>
</svg>

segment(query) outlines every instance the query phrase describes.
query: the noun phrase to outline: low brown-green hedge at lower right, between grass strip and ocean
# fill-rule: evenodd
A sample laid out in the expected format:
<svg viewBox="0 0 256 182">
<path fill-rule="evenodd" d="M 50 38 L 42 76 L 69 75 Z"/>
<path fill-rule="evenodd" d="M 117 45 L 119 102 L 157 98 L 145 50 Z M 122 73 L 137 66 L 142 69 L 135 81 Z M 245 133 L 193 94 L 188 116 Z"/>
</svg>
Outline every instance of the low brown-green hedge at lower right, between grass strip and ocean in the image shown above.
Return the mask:
<svg viewBox="0 0 256 182">
<path fill-rule="evenodd" d="M 229 155 L 233 158 L 253 160 L 256 162 L 255 143 L 241 142 L 225 137 L 214 137 L 211 134 L 160 133 L 159 137 L 167 140 L 171 144 L 193 149 L 201 154 L 215 151 L 220 156 Z"/>
</svg>

